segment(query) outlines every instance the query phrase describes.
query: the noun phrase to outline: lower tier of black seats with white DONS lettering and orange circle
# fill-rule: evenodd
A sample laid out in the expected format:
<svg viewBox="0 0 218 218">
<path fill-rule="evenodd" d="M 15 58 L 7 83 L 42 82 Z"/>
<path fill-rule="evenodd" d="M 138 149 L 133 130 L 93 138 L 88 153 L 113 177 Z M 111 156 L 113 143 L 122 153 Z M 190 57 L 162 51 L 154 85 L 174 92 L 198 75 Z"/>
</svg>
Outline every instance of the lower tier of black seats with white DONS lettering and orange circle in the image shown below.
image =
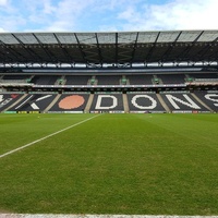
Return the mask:
<svg viewBox="0 0 218 218">
<path fill-rule="evenodd" d="M 1 112 L 218 112 L 218 92 L 0 94 Z"/>
</svg>

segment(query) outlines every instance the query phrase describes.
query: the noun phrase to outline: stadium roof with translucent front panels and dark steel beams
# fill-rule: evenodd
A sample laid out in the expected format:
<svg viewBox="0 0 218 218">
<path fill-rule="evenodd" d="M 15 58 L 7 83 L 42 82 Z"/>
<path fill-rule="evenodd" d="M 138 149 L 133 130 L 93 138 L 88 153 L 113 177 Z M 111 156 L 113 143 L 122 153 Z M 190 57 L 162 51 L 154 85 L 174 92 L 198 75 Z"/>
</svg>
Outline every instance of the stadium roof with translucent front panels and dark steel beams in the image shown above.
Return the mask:
<svg viewBox="0 0 218 218">
<path fill-rule="evenodd" d="M 218 64 L 218 31 L 0 34 L 0 65 L 155 62 Z"/>
</svg>

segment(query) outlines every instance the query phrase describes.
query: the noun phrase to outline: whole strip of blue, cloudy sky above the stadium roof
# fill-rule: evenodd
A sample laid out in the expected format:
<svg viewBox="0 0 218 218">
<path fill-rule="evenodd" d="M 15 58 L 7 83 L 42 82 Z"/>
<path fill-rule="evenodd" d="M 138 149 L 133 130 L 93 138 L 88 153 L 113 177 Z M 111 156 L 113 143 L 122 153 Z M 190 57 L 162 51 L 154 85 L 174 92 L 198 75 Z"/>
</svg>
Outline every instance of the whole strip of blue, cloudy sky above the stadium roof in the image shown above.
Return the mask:
<svg viewBox="0 0 218 218">
<path fill-rule="evenodd" d="M 0 0 L 0 32 L 218 29 L 218 0 Z"/>
</svg>

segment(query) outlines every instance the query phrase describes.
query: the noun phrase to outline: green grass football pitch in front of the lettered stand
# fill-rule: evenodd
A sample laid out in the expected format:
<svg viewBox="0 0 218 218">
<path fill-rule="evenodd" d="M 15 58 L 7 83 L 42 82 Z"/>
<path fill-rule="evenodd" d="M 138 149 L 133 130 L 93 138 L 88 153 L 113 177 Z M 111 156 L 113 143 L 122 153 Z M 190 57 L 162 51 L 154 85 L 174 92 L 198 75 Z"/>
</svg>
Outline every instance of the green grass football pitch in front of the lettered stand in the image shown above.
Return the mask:
<svg viewBox="0 0 218 218">
<path fill-rule="evenodd" d="M 218 114 L 0 114 L 0 214 L 218 215 Z"/>
</svg>

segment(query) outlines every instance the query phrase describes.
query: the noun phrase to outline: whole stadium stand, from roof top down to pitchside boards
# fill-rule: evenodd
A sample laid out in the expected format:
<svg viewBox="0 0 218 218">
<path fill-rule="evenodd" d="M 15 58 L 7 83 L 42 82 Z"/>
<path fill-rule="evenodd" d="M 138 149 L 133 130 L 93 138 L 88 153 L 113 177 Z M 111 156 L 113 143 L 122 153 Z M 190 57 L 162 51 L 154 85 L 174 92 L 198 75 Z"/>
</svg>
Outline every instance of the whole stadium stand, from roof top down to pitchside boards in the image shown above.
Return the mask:
<svg viewBox="0 0 218 218">
<path fill-rule="evenodd" d="M 217 112 L 218 31 L 2 33 L 0 111 Z"/>
</svg>

